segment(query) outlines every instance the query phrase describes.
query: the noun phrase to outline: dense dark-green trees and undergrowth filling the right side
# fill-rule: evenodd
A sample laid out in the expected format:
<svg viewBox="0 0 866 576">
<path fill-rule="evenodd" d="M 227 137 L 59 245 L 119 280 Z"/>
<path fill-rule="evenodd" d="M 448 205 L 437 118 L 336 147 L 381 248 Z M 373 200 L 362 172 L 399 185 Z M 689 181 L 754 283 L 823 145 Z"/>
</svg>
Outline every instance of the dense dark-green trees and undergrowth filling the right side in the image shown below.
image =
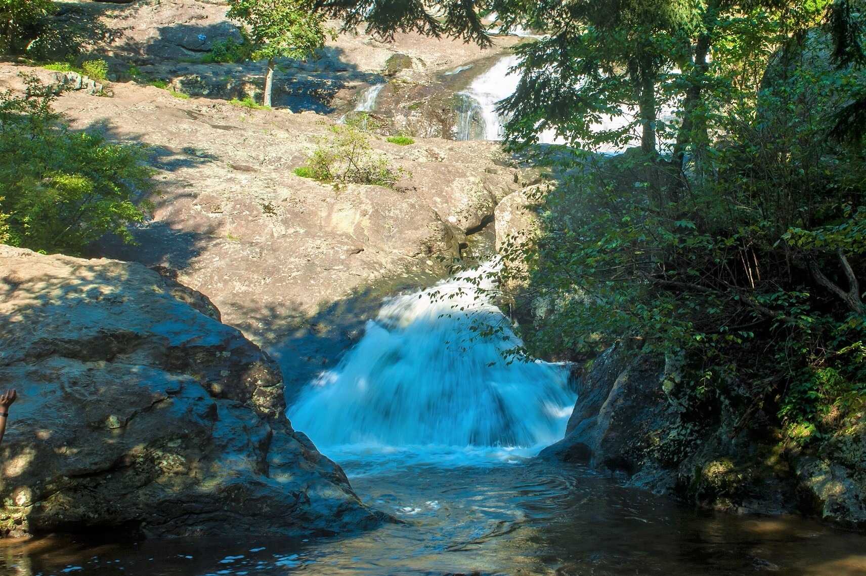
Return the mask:
<svg viewBox="0 0 866 576">
<path fill-rule="evenodd" d="M 321 4 L 386 36 L 487 44 L 489 11 L 546 31 L 501 103 L 508 145 L 557 178 L 503 250 L 533 353 L 639 338 L 682 363 L 678 401 L 763 407 L 799 442 L 863 414 L 862 2 Z M 534 147 L 544 129 L 567 147 Z"/>
</svg>

